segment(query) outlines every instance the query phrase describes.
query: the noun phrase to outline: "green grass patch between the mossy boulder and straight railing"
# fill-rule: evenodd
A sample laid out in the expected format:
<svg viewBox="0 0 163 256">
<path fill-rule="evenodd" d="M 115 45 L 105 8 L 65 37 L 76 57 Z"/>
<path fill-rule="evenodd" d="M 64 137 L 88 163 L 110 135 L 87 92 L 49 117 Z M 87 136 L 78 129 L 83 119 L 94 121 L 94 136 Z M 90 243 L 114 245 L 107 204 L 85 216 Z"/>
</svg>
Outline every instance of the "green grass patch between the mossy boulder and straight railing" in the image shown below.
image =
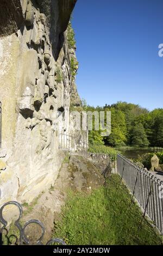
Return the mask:
<svg viewBox="0 0 163 256">
<path fill-rule="evenodd" d="M 120 176 L 90 194 L 70 192 L 55 223 L 53 237 L 68 245 L 161 245 L 161 236 L 145 219 Z"/>
</svg>

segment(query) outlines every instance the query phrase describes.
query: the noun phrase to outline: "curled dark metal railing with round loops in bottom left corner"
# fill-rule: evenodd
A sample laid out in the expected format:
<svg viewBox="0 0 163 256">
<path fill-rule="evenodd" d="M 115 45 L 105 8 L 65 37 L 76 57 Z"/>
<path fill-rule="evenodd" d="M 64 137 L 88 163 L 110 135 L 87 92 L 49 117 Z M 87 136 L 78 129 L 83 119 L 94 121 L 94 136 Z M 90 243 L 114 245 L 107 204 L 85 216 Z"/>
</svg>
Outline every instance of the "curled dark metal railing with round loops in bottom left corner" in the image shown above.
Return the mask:
<svg viewBox="0 0 163 256">
<path fill-rule="evenodd" d="M 8 222 L 5 220 L 5 218 L 3 216 L 3 210 L 8 205 L 15 205 L 18 208 L 19 216 L 18 216 L 17 220 L 14 222 L 14 225 L 20 233 L 19 237 L 17 237 L 15 234 L 9 235 L 9 232 L 7 230 Z M 13 237 L 14 237 L 14 240 L 16 240 L 14 242 L 14 245 L 33 245 L 34 243 L 29 239 L 29 234 L 26 234 L 27 227 L 31 224 L 36 224 L 37 226 L 39 226 L 41 228 L 41 235 L 36 240 L 35 245 L 43 245 L 42 239 L 43 239 L 43 236 L 45 235 L 45 227 L 44 227 L 43 223 L 40 222 L 39 220 L 30 220 L 30 221 L 26 222 L 22 227 L 22 225 L 20 223 L 22 214 L 23 214 L 23 209 L 22 209 L 21 204 L 15 202 L 15 201 L 5 203 L 1 207 L 1 209 L 0 209 L 0 224 L 2 223 L 3 226 L 1 228 L 1 225 L 0 225 L 0 245 L 3 245 L 3 231 L 4 230 L 5 230 L 5 239 L 7 239 L 8 245 L 13 245 L 13 243 L 11 241 L 11 239 L 13 239 Z M 37 231 L 36 231 L 36 233 L 37 233 Z M 49 240 L 46 245 L 52 245 L 53 243 L 57 243 L 60 245 L 66 245 L 66 243 L 61 239 Z"/>
</svg>

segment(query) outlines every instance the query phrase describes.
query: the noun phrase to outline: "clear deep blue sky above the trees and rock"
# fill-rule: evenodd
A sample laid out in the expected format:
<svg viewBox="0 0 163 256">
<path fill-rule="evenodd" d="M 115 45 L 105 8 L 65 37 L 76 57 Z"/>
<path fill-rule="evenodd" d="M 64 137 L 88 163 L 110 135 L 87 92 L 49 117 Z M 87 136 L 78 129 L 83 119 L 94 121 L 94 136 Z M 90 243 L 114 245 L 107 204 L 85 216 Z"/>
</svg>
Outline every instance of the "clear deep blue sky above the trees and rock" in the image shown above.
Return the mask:
<svg viewBox="0 0 163 256">
<path fill-rule="evenodd" d="M 73 12 L 80 97 L 163 107 L 163 0 L 78 0 Z"/>
</svg>

